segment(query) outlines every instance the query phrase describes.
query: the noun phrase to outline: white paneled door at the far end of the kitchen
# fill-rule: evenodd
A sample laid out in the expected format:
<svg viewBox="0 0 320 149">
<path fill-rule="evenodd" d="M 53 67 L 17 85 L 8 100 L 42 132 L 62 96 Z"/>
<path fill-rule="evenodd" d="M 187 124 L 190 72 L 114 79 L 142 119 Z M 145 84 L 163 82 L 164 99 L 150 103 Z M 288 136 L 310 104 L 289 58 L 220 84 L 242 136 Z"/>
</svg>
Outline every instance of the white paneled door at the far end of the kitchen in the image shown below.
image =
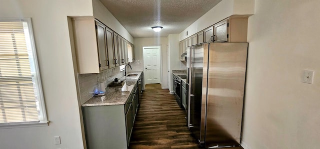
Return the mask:
<svg viewBox="0 0 320 149">
<path fill-rule="evenodd" d="M 143 47 L 145 84 L 161 83 L 160 47 Z"/>
</svg>

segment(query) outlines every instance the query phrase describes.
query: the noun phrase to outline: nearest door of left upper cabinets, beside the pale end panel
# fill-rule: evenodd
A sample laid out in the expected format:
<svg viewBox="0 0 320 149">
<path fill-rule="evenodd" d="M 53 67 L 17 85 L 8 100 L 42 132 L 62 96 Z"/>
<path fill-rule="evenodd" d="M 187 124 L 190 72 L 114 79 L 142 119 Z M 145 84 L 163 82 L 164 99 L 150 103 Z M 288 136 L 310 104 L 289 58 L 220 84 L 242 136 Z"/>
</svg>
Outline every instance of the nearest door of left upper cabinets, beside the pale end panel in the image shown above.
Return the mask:
<svg viewBox="0 0 320 149">
<path fill-rule="evenodd" d="M 99 68 L 100 71 L 108 68 L 107 50 L 106 50 L 106 38 L 105 38 L 105 26 L 99 22 L 95 22 L 96 25 L 96 41 L 99 54 Z"/>
</svg>

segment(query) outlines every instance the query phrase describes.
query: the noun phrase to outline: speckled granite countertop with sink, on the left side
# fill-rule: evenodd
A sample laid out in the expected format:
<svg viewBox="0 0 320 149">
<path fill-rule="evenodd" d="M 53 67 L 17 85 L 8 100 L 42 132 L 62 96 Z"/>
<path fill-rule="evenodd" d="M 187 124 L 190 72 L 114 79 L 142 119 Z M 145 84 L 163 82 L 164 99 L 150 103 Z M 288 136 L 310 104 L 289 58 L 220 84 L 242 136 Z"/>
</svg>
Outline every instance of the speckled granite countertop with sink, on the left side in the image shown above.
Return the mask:
<svg viewBox="0 0 320 149">
<path fill-rule="evenodd" d="M 120 80 L 125 80 L 122 88 L 120 87 L 107 87 L 105 90 L 105 100 L 101 101 L 101 97 L 92 97 L 82 107 L 90 106 L 108 106 L 108 105 L 124 105 L 131 94 L 134 86 L 137 83 L 142 72 L 128 72 L 127 74 L 138 74 L 132 77 L 121 77 Z"/>
</svg>

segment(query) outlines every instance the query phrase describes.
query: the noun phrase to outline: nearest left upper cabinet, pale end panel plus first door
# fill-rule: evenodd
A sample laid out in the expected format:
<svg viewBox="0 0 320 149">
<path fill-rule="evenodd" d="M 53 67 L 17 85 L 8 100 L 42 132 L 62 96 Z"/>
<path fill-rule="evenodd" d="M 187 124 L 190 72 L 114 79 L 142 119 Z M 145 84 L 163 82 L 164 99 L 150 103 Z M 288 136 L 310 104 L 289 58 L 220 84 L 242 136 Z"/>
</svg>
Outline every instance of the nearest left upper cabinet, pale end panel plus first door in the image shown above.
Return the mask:
<svg viewBox="0 0 320 149">
<path fill-rule="evenodd" d="M 104 25 L 99 23 L 97 30 L 95 29 L 94 18 L 72 19 L 72 33 L 78 73 L 99 73 L 101 70 L 108 68 L 105 66 L 108 64 L 108 58 L 104 54 L 107 50 L 107 47 L 103 45 L 106 42 L 103 33 L 104 29 Z"/>
</svg>

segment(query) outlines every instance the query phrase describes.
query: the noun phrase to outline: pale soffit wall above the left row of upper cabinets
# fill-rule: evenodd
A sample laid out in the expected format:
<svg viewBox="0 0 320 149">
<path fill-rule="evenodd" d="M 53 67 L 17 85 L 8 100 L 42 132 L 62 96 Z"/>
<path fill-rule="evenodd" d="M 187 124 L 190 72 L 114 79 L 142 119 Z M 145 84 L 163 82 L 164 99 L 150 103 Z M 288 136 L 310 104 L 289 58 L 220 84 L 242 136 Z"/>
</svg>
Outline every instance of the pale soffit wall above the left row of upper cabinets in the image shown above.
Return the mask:
<svg viewBox="0 0 320 149">
<path fill-rule="evenodd" d="M 92 0 L 93 15 L 95 18 L 103 22 L 110 29 L 117 34 L 133 43 L 133 37 L 130 33 L 120 24 L 120 22 L 110 13 L 108 9 L 102 4 L 100 0 Z"/>
</svg>

